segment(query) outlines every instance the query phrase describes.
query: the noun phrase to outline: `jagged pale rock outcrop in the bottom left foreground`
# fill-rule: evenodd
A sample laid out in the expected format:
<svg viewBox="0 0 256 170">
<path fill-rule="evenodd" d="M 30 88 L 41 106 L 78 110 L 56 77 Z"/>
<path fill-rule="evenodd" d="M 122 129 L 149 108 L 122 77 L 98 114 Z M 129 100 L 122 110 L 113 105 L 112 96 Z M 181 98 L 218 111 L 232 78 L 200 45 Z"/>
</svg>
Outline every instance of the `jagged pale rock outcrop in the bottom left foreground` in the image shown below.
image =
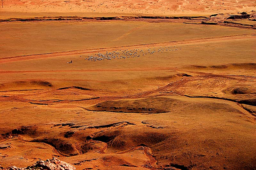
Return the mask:
<svg viewBox="0 0 256 170">
<path fill-rule="evenodd" d="M 72 166 L 71 164 L 63 162 L 57 158 L 52 158 L 45 161 L 39 160 L 27 168 L 18 168 L 16 166 L 4 168 L 0 166 L 0 170 L 76 170 L 76 168 L 75 166 Z"/>
</svg>

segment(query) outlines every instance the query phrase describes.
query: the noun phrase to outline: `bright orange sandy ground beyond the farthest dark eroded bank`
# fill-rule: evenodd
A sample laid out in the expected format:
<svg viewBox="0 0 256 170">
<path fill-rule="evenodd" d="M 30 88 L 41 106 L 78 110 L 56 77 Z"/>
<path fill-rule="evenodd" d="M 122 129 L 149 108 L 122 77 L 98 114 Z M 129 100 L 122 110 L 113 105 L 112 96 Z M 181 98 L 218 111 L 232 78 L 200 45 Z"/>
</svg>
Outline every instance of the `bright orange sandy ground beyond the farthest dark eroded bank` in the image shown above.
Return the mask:
<svg viewBox="0 0 256 170">
<path fill-rule="evenodd" d="M 40 15 L 42 12 L 51 16 L 58 13 L 69 13 L 66 14 L 68 16 L 82 14 L 103 17 L 124 14 L 200 16 L 255 11 L 255 4 L 254 0 L 3 0 L 4 8 L 0 11 L 7 12 L 4 14 L 9 16 L 22 16 L 22 13 L 26 12 L 26 17 Z M 44 16 L 48 15 L 44 14 Z"/>
</svg>

